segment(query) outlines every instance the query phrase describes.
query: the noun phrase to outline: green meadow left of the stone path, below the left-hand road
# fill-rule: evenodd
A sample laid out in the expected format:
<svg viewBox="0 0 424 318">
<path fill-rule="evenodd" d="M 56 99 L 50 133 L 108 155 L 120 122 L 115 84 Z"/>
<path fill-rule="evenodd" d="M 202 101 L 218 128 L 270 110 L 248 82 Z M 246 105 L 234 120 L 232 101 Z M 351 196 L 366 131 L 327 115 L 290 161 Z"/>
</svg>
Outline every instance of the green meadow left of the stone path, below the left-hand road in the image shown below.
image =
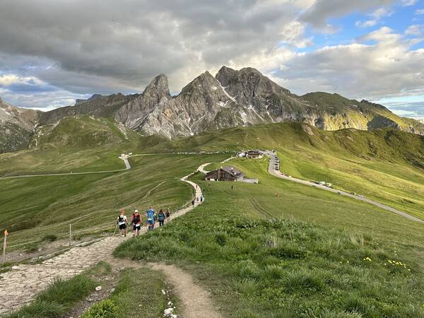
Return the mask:
<svg viewBox="0 0 424 318">
<path fill-rule="evenodd" d="M 129 213 L 153 204 L 173 211 L 192 197 L 192 189 L 179 178 L 201 163 L 224 158 L 148 155 L 131 158 L 133 168 L 125 172 L 0 179 L 0 230 L 11 232 L 10 247 L 25 247 L 47 234 L 66 237 L 69 223 L 77 237 L 113 230 L 121 208 Z"/>
</svg>

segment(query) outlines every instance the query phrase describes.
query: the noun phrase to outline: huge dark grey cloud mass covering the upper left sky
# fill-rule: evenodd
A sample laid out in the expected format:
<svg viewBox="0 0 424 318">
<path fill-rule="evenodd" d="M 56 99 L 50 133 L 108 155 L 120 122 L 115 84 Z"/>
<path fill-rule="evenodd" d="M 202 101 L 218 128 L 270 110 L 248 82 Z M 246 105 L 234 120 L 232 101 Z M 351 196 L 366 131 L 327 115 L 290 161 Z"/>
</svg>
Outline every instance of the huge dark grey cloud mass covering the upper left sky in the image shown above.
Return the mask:
<svg viewBox="0 0 424 318">
<path fill-rule="evenodd" d="M 295 21 L 304 2 L 6 1 L 0 55 L 39 59 L 37 78 L 75 93 L 140 91 L 158 73 L 179 91 L 204 69 L 247 52 L 309 45 Z"/>
</svg>

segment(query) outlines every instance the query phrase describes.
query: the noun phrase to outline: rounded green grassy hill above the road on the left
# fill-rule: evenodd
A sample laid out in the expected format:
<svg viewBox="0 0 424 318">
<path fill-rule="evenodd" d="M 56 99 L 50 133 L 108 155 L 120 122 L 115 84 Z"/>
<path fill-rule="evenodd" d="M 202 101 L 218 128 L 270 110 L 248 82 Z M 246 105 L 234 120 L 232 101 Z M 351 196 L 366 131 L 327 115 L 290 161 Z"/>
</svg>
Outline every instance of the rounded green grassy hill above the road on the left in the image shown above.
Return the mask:
<svg viewBox="0 0 424 318">
<path fill-rule="evenodd" d="M 0 176 L 122 169 L 139 138 L 112 119 L 67 117 L 37 129 L 30 149 L 0 154 Z"/>
</svg>

